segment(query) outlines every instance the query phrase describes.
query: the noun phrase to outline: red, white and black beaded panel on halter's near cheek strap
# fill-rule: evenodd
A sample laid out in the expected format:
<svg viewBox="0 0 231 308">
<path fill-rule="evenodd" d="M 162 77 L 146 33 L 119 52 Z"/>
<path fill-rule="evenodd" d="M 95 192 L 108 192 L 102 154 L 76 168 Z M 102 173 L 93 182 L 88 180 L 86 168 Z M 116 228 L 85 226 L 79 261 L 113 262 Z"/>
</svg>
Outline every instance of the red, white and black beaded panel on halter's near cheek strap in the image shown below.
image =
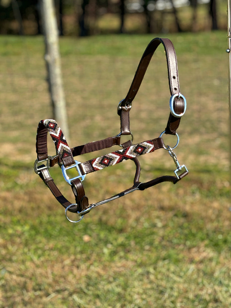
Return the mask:
<svg viewBox="0 0 231 308">
<path fill-rule="evenodd" d="M 149 140 L 94 158 L 90 160 L 90 162 L 94 171 L 97 171 L 118 164 L 123 160 L 132 159 L 146 153 L 154 152 L 154 150 L 154 144 L 152 140 Z"/>
</svg>

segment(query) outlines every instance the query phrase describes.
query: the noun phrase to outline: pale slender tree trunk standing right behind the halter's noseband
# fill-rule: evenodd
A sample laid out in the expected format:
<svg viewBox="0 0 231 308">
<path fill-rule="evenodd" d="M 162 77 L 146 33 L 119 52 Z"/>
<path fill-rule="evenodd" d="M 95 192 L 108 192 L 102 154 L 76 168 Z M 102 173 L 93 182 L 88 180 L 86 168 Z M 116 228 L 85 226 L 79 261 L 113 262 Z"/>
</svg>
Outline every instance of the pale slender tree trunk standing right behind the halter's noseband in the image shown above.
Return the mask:
<svg viewBox="0 0 231 308">
<path fill-rule="evenodd" d="M 53 118 L 68 138 L 67 112 L 63 91 L 61 60 L 59 54 L 58 26 L 53 0 L 40 0 L 43 34 L 45 38 L 45 61 L 51 94 Z"/>
</svg>

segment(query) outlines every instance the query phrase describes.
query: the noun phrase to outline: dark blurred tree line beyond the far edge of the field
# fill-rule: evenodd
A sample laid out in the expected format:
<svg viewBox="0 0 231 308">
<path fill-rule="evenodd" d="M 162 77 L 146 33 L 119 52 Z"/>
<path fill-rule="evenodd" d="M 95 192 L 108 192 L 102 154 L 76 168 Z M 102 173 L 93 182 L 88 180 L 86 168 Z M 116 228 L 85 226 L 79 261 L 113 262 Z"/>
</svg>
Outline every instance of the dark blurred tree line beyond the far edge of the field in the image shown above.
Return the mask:
<svg viewBox="0 0 231 308">
<path fill-rule="evenodd" d="M 224 30 L 225 0 L 55 0 L 60 35 Z M 39 1 L 1 0 L 0 34 L 42 33 Z"/>
</svg>

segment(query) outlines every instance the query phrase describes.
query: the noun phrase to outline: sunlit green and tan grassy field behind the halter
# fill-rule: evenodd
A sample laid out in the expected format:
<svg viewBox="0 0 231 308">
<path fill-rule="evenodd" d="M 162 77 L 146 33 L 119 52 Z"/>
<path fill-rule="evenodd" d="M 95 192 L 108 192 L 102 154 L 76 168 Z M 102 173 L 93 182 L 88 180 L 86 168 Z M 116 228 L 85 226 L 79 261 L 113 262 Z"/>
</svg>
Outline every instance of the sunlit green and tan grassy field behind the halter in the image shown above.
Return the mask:
<svg viewBox="0 0 231 308">
<path fill-rule="evenodd" d="M 120 132 L 117 104 L 153 37 L 60 40 L 71 147 Z M 101 205 L 71 224 L 33 170 L 37 125 L 51 117 L 43 38 L 0 37 L 0 307 L 231 306 L 226 33 L 168 38 L 188 105 L 175 152 L 189 175 Z M 134 143 L 158 137 L 167 123 L 166 60 L 159 49 L 130 113 Z M 55 154 L 52 142 L 49 154 Z M 89 157 L 95 154 L 78 160 Z M 165 150 L 140 162 L 141 180 L 175 169 Z M 58 168 L 53 175 L 74 202 Z M 133 176 L 129 162 L 88 175 L 89 201 L 130 187 Z"/>
</svg>

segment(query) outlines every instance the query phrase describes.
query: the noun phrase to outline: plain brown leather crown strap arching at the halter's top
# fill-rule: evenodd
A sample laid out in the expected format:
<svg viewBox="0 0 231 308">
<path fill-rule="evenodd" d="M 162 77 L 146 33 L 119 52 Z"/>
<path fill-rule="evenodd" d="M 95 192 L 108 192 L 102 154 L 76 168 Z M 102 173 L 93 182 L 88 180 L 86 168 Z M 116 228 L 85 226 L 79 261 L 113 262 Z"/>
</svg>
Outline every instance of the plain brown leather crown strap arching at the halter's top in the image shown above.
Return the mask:
<svg viewBox="0 0 231 308">
<path fill-rule="evenodd" d="M 163 44 L 165 49 L 165 55 L 167 59 L 167 67 L 168 67 L 168 81 L 169 81 L 169 89 L 170 94 L 178 94 L 180 93 L 180 85 L 179 85 L 179 77 L 178 77 L 178 68 L 177 68 L 177 60 L 176 60 L 176 53 L 175 49 L 173 47 L 172 42 L 169 39 L 161 39 L 161 38 L 155 38 L 153 39 L 149 44 L 146 50 L 144 51 L 144 54 L 140 60 L 140 63 L 138 65 L 136 74 L 134 76 L 134 79 L 132 81 L 131 87 L 128 91 L 127 96 L 124 100 L 120 102 L 120 107 L 118 109 L 118 114 L 120 115 L 121 120 L 121 133 L 122 135 L 128 135 L 130 134 L 130 128 L 129 128 L 129 111 L 131 103 L 133 99 L 136 96 L 136 93 L 138 92 L 140 85 L 142 83 L 142 80 L 144 78 L 145 72 L 148 68 L 149 62 L 152 59 L 152 55 L 156 51 L 157 47 L 160 44 Z M 124 107 L 127 107 L 124 108 Z M 184 101 L 180 97 L 176 97 L 174 99 L 174 111 L 176 114 L 182 113 L 184 110 Z M 167 127 L 165 129 L 166 134 L 176 134 L 176 129 L 178 128 L 180 124 L 180 118 L 174 117 L 171 113 L 168 118 Z"/>
</svg>

